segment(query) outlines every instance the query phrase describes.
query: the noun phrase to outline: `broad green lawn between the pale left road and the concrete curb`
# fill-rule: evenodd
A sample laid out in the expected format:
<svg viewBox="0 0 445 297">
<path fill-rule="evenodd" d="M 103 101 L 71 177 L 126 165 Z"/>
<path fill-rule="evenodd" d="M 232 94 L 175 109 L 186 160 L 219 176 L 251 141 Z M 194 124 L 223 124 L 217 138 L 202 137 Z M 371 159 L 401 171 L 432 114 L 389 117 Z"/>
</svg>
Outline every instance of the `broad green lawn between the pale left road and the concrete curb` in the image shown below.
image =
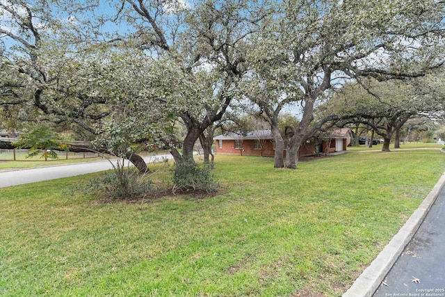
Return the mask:
<svg viewBox="0 0 445 297">
<path fill-rule="evenodd" d="M 2 188 L 0 295 L 341 296 L 444 166 L 438 150 L 298 170 L 216 156 L 220 195 L 136 204 L 70 193 L 91 175 Z"/>
</svg>

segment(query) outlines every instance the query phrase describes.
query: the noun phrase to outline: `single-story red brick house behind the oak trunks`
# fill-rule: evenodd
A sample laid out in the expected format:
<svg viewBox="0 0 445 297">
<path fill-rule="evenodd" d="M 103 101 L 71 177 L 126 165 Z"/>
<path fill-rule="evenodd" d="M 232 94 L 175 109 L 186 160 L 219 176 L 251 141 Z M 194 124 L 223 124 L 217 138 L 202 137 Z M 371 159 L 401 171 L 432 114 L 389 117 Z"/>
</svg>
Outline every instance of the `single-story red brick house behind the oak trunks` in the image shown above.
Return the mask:
<svg viewBox="0 0 445 297">
<path fill-rule="evenodd" d="M 243 156 L 274 156 L 273 136 L 270 130 L 251 131 L 245 136 L 230 133 L 213 138 L 216 141 L 216 154 L 242 154 Z M 348 128 L 337 129 L 327 138 L 310 138 L 303 143 L 298 156 L 312 156 L 323 152 L 346 150 L 350 144 Z M 286 152 L 284 152 L 286 153 Z"/>
</svg>

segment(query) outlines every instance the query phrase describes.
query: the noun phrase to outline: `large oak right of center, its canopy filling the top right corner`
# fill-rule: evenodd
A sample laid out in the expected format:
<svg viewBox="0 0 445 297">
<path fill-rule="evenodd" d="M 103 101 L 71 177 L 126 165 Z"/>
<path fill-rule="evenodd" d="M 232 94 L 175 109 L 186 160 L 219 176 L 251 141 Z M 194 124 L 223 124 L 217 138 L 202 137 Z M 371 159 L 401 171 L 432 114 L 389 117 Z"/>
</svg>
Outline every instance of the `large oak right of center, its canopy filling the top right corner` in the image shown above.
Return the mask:
<svg viewBox="0 0 445 297">
<path fill-rule="evenodd" d="M 257 90 L 251 97 L 264 111 L 275 102 L 270 115 L 282 104 L 299 102 L 286 168 L 297 167 L 298 149 L 313 131 L 314 109 L 328 91 L 360 77 L 419 77 L 444 63 L 442 1 L 294 0 L 282 3 L 278 16 L 250 51 L 257 72 L 268 74 L 254 85 L 274 88 L 275 95 L 256 97 Z M 275 159 L 275 167 L 280 162 Z"/>
</svg>

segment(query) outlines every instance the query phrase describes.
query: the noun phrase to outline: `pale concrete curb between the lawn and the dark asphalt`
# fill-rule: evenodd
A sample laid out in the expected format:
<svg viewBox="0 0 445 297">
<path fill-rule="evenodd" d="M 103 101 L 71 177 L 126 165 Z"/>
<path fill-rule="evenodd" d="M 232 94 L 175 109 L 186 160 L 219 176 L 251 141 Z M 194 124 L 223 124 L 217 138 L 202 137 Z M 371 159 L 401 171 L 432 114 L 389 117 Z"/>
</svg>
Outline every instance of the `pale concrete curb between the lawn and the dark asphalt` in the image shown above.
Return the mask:
<svg viewBox="0 0 445 297">
<path fill-rule="evenodd" d="M 437 195 L 445 184 L 445 173 L 439 182 L 432 188 L 419 208 L 414 211 L 401 230 L 389 241 L 387 246 L 371 262 L 363 273 L 355 280 L 354 284 L 343 294 L 343 297 L 371 297 L 380 286 L 380 283 L 389 273 L 392 266 L 401 255 L 405 246 L 419 229 L 423 219 L 434 204 Z"/>
</svg>

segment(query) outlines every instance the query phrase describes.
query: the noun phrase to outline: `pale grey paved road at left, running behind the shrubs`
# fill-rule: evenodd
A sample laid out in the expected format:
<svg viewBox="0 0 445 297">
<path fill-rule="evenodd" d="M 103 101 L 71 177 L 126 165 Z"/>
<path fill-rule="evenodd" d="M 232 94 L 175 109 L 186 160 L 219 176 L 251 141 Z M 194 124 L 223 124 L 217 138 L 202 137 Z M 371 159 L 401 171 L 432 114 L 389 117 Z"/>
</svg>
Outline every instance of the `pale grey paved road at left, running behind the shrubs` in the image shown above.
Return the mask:
<svg viewBox="0 0 445 297">
<path fill-rule="evenodd" d="M 146 156 L 144 158 L 147 163 L 160 161 L 162 159 L 172 159 L 172 156 L 170 154 L 162 154 L 157 156 Z M 116 160 L 113 160 L 113 164 L 116 165 Z M 112 169 L 113 164 L 110 161 L 95 161 L 60 166 L 0 171 L 0 188 L 104 171 Z M 125 163 L 125 166 L 127 165 L 129 165 L 128 161 Z"/>
</svg>

